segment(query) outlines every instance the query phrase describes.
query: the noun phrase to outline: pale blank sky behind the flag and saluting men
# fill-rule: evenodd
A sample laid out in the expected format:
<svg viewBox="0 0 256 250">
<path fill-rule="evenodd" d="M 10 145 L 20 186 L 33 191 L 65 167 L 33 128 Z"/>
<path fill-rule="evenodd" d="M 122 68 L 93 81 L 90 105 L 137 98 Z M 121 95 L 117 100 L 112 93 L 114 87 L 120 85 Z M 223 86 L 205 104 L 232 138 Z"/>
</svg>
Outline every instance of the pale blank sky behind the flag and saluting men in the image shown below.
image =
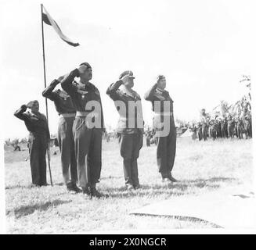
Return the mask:
<svg viewBox="0 0 256 250">
<path fill-rule="evenodd" d="M 99 88 L 106 125 L 115 127 L 118 114 L 106 88 L 124 70 L 135 75 L 134 90 L 142 97 L 144 120 L 151 125 L 145 92 L 158 74 L 167 79 L 175 119 L 197 120 L 221 100 L 230 104 L 246 94 L 240 84 L 252 74 L 255 37 L 251 1 L 95 0 L 1 1 L 1 86 L 3 137 L 26 137 L 13 116 L 20 105 L 38 99 L 45 113 L 41 6 L 67 37 L 62 41 L 44 25 L 47 85 L 81 62 L 92 66 L 92 84 Z M 49 128 L 56 134 L 58 115 L 51 101 Z"/>
</svg>

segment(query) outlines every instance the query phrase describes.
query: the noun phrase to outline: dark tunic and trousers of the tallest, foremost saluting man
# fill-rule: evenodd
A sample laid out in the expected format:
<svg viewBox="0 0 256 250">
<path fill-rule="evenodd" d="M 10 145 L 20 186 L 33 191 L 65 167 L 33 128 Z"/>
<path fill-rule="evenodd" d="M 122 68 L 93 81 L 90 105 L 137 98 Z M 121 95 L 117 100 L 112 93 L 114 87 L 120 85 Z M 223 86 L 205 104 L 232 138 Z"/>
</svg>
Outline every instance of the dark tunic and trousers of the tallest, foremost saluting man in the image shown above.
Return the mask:
<svg viewBox="0 0 256 250">
<path fill-rule="evenodd" d="M 91 83 L 72 84 L 74 77 L 79 77 L 78 69 L 71 71 L 62 80 L 61 86 L 72 98 L 77 111 L 73 135 L 78 168 L 78 185 L 80 187 L 95 187 L 96 183 L 99 182 L 102 166 L 103 109 L 99 90 Z M 97 102 L 100 110 L 93 109 L 93 107 L 85 108 L 89 101 Z M 87 116 L 92 112 L 100 117 L 100 127 L 88 126 Z"/>
</svg>

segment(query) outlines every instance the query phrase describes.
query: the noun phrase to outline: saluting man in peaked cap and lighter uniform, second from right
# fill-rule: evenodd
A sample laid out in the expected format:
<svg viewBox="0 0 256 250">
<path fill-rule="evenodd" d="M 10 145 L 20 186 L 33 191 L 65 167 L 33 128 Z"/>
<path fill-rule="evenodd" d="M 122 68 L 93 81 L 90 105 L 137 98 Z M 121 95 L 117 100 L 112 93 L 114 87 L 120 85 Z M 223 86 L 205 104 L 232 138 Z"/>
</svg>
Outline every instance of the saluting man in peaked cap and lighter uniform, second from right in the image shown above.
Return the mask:
<svg viewBox="0 0 256 250">
<path fill-rule="evenodd" d="M 128 190 L 140 187 L 137 159 L 143 144 L 142 105 L 139 94 L 132 89 L 134 78 L 132 71 L 124 71 L 119 80 L 106 90 L 106 94 L 114 100 L 120 115 L 117 133 L 121 156 L 124 159 L 124 180 Z M 129 109 L 129 102 L 136 105 L 135 109 Z M 134 126 L 129 125 L 132 122 Z"/>
</svg>

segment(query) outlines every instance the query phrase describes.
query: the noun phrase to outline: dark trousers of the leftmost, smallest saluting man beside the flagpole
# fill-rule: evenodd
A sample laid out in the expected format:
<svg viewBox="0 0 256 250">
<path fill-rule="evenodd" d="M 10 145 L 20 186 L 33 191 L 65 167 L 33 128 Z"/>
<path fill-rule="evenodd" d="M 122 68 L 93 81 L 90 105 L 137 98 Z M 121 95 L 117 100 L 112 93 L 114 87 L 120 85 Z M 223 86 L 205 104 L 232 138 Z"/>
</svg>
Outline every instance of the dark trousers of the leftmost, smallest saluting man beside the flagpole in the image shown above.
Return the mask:
<svg viewBox="0 0 256 250">
<path fill-rule="evenodd" d="M 32 184 L 39 186 L 46 184 L 45 154 L 47 143 L 46 135 L 31 133 L 29 136 Z"/>
</svg>

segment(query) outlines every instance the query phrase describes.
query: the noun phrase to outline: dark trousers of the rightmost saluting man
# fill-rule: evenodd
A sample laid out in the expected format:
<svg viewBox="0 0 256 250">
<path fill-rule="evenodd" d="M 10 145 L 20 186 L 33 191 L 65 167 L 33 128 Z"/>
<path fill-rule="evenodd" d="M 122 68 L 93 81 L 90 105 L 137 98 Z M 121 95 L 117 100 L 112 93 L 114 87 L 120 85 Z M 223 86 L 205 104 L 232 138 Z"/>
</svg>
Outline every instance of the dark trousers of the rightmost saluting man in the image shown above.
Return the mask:
<svg viewBox="0 0 256 250">
<path fill-rule="evenodd" d="M 171 119 L 172 120 L 172 119 Z M 168 136 L 158 137 L 157 142 L 157 166 L 163 178 L 171 176 L 171 170 L 175 162 L 176 153 L 176 127 L 171 121 Z"/>
</svg>

